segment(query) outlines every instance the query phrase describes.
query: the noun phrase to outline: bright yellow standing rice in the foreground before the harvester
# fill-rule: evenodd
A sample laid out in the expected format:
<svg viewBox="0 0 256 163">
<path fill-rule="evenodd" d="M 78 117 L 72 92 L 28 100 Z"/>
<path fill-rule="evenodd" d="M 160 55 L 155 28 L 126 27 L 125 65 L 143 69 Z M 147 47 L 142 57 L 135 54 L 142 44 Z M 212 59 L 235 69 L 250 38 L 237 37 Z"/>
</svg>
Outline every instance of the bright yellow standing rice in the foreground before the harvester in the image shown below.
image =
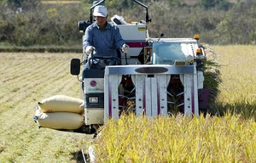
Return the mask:
<svg viewBox="0 0 256 163">
<path fill-rule="evenodd" d="M 238 115 L 123 117 L 96 138 L 96 162 L 255 162 L 255 132 Z"/>
</svg>

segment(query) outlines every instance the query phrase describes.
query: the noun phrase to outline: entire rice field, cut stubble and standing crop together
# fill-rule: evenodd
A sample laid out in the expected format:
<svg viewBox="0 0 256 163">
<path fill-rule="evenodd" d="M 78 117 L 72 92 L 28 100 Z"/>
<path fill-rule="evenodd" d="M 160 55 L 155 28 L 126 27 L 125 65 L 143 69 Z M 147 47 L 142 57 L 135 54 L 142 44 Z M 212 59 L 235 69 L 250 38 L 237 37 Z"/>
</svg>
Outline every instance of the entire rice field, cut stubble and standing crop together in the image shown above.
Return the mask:
<svg viewBox="0 0 256 163">
<path fill-rule="evenodd" d="M 99 137 L 38 128 L 38 101 L 57 94 L 79 98 L 69 73 L 79 53 L 0 53 L 0 162 L 256 162 L 256 46 L 214 46 L 222 82 L 199 117 L 125 116 L 108 121 Z M 235 114 L 234 114 L 235 113 Z"/>
</svg>

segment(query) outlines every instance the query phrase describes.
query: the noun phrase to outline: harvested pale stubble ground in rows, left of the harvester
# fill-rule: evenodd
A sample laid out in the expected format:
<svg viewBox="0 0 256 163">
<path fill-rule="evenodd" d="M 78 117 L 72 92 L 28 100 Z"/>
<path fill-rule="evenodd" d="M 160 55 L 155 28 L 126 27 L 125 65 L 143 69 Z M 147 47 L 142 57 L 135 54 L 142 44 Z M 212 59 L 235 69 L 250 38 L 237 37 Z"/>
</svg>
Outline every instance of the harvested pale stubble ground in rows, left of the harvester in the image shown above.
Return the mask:
<svg viewBox="0 0 256 163">
<path fill-rule="evenodd" d="M 78 53 L 0 53 L 0 162 L 78 162 L 92 136 L 38 129 L 38 101 L 56 94 L 79 98 L 69 73 Z"/>
</svg>

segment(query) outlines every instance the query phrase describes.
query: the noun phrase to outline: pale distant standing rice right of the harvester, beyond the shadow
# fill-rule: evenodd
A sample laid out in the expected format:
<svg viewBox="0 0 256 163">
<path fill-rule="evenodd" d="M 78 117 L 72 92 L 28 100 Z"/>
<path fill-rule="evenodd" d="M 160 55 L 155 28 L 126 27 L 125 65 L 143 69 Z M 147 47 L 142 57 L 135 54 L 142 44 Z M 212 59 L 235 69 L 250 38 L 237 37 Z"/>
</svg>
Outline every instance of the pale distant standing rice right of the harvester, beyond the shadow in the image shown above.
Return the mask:
<svg viewBox="0 0 256 163">
<path fill-rule="evenodd" d="M 227 104 L 256 99 L 256 47 L 227 46 L 214 47 L 220 63 L 221 83 L 218 99 Z"/>
</svg>

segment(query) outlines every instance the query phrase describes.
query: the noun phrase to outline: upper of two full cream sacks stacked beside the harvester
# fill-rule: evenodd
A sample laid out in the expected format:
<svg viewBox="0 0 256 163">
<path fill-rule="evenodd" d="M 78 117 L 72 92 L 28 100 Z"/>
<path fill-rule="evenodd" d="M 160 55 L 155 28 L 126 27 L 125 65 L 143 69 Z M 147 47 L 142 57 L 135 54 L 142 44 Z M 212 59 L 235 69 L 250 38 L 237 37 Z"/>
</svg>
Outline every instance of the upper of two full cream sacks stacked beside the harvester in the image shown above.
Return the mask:
<svg viewBox="0 0 256 163">
<path fill-rule="evenodd" d="M 44 98 L 38 102 L 41 110 L 45 113 L 51 112 L 72 112 L 82 113 L 83 108 L 80 105 L 84 104 L 83 99 L 72 98 L 65 95 L 55 95 L 49 98 Z"/>
</svg>

